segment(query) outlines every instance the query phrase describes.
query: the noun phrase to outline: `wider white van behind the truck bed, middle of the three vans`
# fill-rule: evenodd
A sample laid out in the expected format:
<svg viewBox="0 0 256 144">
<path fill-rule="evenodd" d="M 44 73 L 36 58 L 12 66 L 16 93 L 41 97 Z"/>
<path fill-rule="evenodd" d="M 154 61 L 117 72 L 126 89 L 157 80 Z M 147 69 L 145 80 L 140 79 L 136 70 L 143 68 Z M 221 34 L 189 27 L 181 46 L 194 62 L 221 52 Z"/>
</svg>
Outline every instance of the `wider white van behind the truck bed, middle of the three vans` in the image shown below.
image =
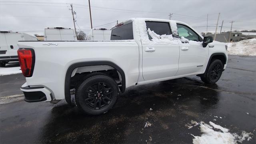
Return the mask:
<svg viewBox="0 0 256 144">
<path fill-rule="evenodd" d="M 74 29 L 71 28 L 45 28 L 44 40 L 77 40 Z"/>
</svg>

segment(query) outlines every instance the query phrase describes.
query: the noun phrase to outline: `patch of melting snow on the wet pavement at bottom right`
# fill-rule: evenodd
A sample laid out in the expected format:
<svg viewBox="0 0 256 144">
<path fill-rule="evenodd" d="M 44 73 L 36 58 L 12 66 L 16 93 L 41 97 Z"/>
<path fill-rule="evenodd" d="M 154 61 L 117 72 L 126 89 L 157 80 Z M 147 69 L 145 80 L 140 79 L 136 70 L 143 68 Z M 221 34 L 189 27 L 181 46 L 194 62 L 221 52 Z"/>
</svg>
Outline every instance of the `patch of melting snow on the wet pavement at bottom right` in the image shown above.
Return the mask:
<svg viewBox="0 0 256 144">
<path fill-rule="evenodd" d="M 236 133 L 232 134 L 228 132 L 229 130 L 227 128 L 223 128 L 213 122 L 209 122 L 210 125 L 204 122 L 194 124 L 194 126 L 200 125 L 200 130 L 203 134 L 201 136 L 191 134 L 194 136 L 193 144 L 237 144 L 237 142 L 252 139 L 252 137 L 250 137 L 252 133 L 242 131 L 241 135 Z"/>
</svg>

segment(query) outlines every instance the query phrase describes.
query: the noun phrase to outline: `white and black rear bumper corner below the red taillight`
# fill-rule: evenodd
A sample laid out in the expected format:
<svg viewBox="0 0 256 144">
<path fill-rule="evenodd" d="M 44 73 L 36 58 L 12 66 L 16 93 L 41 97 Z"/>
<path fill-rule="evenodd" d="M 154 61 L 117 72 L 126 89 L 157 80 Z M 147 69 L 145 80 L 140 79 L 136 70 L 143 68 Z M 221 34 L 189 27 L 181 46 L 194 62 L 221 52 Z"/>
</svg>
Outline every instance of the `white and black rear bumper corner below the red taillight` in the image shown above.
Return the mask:
<svg viewBox="0 0 256 144">
<path fill-rule="evenodd" d="M 24 93 L 26 102 L 50 102 L 52 93 L 44 86 L 31 87 L 27 83 L 23 84 L 20 90 Z"/>
</svg>

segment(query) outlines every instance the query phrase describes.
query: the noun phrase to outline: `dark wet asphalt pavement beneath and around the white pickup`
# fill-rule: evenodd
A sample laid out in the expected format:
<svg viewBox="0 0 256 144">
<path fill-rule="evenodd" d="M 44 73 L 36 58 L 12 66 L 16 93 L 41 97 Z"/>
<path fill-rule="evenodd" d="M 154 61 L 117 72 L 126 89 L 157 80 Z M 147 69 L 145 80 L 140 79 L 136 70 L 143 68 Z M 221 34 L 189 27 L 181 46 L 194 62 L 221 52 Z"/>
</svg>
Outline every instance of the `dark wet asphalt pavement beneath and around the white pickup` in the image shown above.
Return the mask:
<svg viewBox="0 0 256 144">
<path fill-rule="evenodd" d="M 21 94 L 24 81 L 22 74 L 0 76 L 0 96 Z M 134 86 L 100 116 L 83 114 L 64 100 L 1 104 L 0 143 L 192 143 L 191 134 L 201 133 L 188 129 L 191 120 L 252 132 L 252 140 L 243 143 L 256 143 L 256 57 L 229 56 L 213 85 L 190 76 Z M 144 128 L 146 122 L 152 125 Z"/>
</svg>

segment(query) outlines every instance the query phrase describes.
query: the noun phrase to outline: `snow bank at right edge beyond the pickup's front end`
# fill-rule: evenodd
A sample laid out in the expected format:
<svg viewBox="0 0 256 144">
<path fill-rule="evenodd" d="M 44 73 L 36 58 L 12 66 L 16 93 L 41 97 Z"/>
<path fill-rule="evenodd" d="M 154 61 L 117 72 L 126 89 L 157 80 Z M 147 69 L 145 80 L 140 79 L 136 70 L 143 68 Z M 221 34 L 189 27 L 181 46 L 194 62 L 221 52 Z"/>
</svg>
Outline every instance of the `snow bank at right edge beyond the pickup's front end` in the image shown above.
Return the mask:
<svg viewBox="0 0 256 144">
<path fill-rule="evenodd" d="M 229 43 L 228 54 L 256 56 L 256 38 Z"/>
</svg>

